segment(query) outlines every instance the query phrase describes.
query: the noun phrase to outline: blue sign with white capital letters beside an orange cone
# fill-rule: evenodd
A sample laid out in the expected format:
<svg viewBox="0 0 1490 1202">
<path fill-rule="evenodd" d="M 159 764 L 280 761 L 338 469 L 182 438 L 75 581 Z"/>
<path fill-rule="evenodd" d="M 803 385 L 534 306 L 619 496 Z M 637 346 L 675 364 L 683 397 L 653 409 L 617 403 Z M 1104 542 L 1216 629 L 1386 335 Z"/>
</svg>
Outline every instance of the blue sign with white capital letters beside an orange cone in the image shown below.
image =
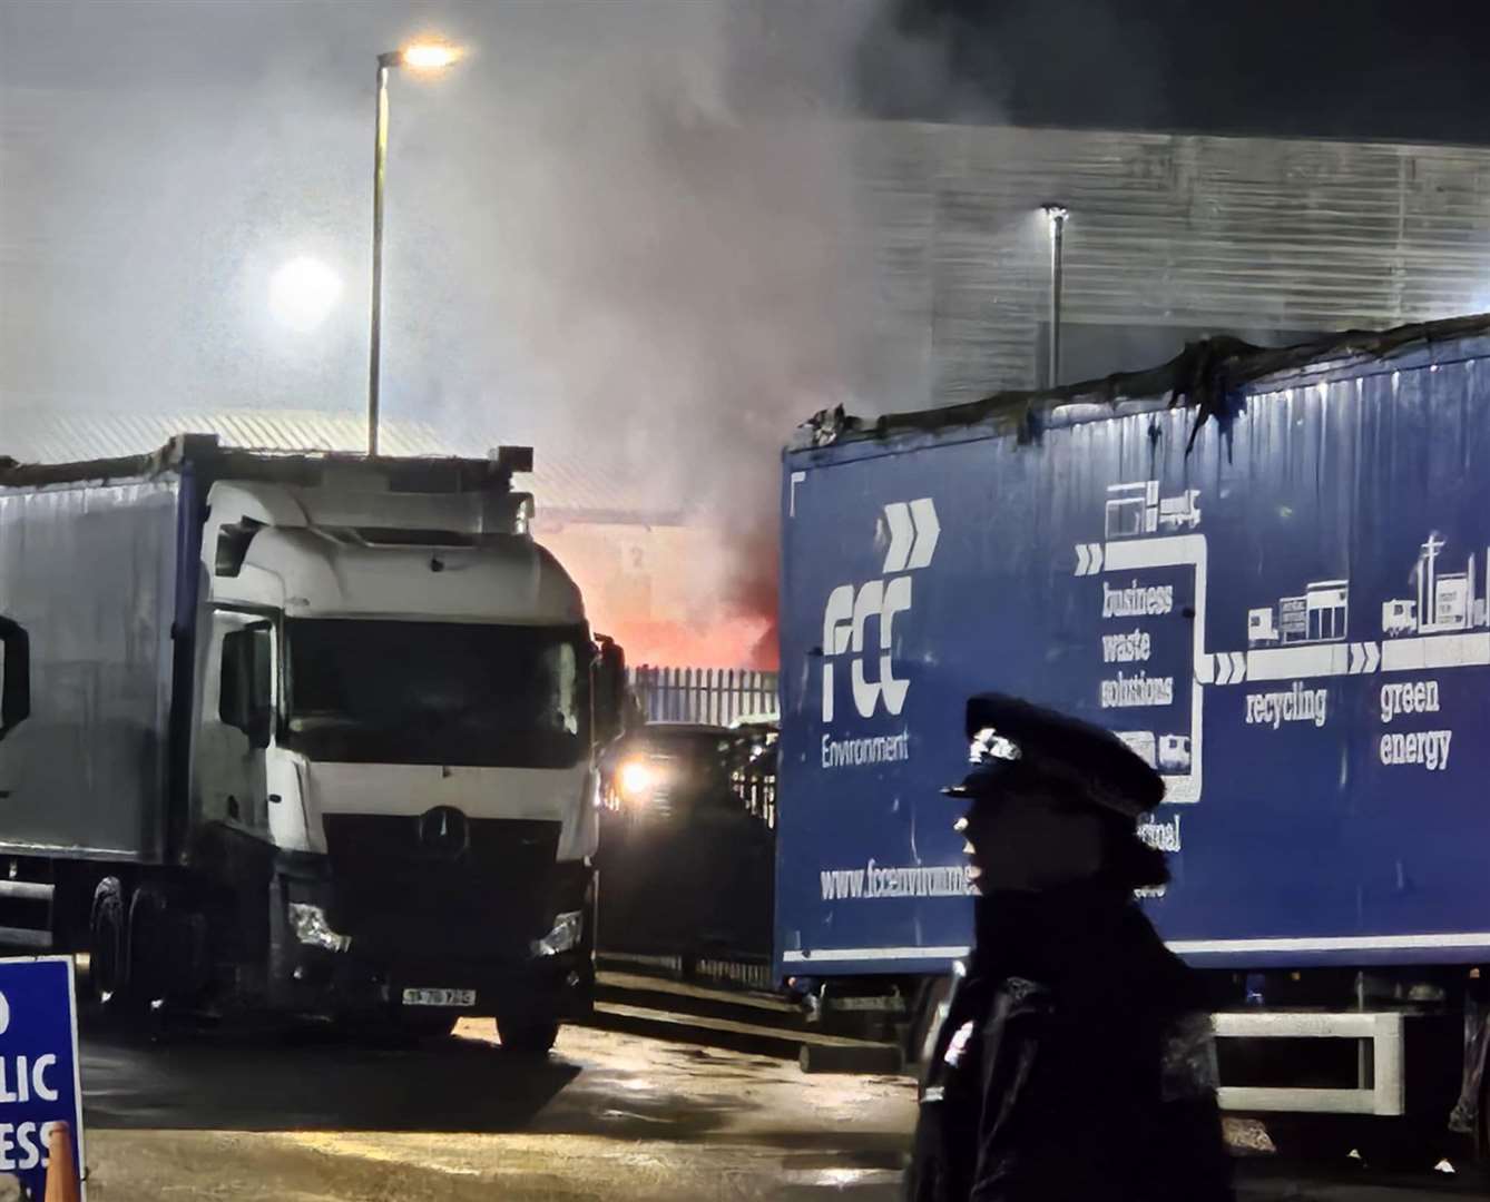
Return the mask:
<svg viewBox="0 0 1490 1202">
<path fill-rule="evenodd" d="M 52 1128 L 72 1128 L 82 1177 L 77 1004 L 67 956 L 0 961 L 0 1175 L 42 1198 Z"/>
</svg>

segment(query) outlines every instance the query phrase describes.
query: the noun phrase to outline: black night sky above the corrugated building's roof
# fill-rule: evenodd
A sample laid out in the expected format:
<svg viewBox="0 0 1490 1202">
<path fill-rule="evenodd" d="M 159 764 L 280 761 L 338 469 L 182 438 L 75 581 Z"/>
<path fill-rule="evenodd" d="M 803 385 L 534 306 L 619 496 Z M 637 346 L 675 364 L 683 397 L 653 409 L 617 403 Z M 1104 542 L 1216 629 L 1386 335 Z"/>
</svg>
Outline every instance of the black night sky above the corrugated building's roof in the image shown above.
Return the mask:
<svg viewBox="0 0 1490 1202">
<path fill-rule="evenodd" d="M 949 71 L 884 115 L 1205 134 L 1490 141 L 1490 6 L 1426 0 L 900 0 Z"/>
</svg>

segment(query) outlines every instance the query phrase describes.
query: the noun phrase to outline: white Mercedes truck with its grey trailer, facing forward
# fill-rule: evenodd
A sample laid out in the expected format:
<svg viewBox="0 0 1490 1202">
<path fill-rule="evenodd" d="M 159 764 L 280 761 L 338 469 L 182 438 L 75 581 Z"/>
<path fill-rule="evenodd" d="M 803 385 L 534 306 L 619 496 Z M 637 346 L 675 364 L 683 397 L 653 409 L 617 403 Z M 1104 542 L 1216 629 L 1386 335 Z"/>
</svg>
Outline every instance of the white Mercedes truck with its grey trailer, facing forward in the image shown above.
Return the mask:
<svg viewBox="0 0 1490 1202">
<path fill-rule="evenodd" d="M 0 943 L 97 1002 L 490 1014 L 592 1001 L 620 649 L 492 460 L 0 463 Z"/>
</svg>

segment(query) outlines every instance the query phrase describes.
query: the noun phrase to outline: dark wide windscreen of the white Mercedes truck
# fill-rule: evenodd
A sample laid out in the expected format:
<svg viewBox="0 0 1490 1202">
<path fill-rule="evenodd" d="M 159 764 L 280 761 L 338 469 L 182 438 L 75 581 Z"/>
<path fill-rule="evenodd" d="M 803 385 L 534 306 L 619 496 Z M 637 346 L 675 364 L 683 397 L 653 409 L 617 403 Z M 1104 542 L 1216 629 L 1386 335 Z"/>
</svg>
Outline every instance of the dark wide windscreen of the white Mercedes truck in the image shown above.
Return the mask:
<svg viewBox="0 0 1490 1202">
<path fill-rule="evenodd" d="M 311 760 L 569 767 L 590 739 L 583 627 L 292 618 L 283 740 Z"/>
</svg>

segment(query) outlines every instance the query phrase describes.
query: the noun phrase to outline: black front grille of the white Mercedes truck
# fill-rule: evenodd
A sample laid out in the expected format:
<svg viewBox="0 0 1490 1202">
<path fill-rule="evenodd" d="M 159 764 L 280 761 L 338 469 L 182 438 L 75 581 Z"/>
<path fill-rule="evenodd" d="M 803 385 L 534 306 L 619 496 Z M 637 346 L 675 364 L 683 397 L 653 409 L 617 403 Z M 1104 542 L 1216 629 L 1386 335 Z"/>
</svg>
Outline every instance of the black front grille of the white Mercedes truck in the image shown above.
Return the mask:
<svg viewBox="0 0 1490 1202">
<path fill-rule="evenodd" d="M 560 824 L 454 815 L 465 837 L 440 840 L 426 818 L 326 815 L 335 929 L 374 956 L 526 958 L 553 922 Z"/>
</svg>

